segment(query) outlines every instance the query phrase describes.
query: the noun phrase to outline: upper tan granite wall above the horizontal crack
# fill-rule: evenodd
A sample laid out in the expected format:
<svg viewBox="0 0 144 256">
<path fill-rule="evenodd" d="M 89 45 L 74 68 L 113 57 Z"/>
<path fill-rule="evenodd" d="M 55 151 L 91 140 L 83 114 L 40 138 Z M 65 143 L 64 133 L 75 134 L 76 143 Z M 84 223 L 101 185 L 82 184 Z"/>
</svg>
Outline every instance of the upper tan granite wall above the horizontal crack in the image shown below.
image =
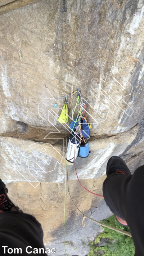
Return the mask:
<svg viewBox="0 0 144 256">
<path fill-rule="evenodd" d="M 44 84 L 54 98 L 81 87 L 82 97 L 90 96 L 97 123 L 111 111 L 113 114 L 94 130 L 98 134 L 129 130 L 143 116 L 143 1 L 126 1 L 119 8 L 112 1 L 63 3 L 41 1 L 0 17 L 1 133 L 15 130 L 15 121 L 48 126 L 48 121 L 37 114 L 38 104 L 49 98 Z M 113 68 L 132 86 L 119 73 L 116 78 L 120 84 L 109 84 L 114 75 L 100 84 Z M 130 117 L 127 114 L 132 111 L 121 97 L 135 111 Z M 75 102 L 75 97 L 70 99 L 70 110 Z M 63 105 L 63 100 L 59 104 Z"/>
</svg>

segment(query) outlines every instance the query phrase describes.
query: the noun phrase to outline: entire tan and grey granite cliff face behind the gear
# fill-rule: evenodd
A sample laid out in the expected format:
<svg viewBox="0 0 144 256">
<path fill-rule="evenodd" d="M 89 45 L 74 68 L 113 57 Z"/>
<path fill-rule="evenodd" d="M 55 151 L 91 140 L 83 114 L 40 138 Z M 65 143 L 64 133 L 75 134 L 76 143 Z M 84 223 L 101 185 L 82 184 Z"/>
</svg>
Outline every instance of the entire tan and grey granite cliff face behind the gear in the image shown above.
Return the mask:
<svg viewBox="0 0 144 256">
<path fill-rule="evenodd" d="M 66 128 L 57 122 L 64 100 L 53 108 L 55 99 L 79 87 L 83 101 L 89 97 L 91 153 L 76 160 L 89 190 L 102 193 L 112 155 L 121 155 L 132 171 L 143 164 L 143 12 L 143 0 L 41 0 L 0 16 L 0 178 L 14 203 L 41 222 L 44 243 L 56 255 L 65 253 Z M 76 98 L 69 98 L 69 123 Z M 103 199 L 79 187 L 71 164 L 68 174 L 80 210 L 97 220 L 111 215 Z M 86 255 L 102 230 L 90 221 L 82 228 L 81 221 L 67 194 L 69 255 Z"/>
</svg>

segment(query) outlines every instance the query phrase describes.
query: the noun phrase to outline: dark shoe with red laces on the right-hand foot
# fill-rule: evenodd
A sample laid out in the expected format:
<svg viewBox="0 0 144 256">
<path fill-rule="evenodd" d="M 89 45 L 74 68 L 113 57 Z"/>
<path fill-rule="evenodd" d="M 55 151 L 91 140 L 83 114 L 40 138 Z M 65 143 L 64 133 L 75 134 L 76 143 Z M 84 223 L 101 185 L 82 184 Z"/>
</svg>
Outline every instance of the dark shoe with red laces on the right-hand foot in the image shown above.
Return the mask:
<svg viewBox="0 0 144 256">
<path fill-rule="evenodd" d="M 107 176 L 114 173 L 131 175 L 131 172 L 127 167 L 126 163 L 117 156 L 109 158 L 107 163 Z"/>
</svg>

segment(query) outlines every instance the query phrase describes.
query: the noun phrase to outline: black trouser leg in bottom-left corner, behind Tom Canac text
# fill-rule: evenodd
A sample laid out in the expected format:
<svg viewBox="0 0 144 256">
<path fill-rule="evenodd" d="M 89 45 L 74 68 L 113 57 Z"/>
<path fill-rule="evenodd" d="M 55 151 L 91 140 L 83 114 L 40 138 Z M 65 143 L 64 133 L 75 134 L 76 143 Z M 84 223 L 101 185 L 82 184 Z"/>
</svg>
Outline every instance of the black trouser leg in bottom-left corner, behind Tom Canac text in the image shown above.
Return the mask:
<svg viewBox="0 0 144 256">
<path fill-rule="evenodd" d="M 22 249 L 22 253 L 19 250 L 18 255 L 47 255 L 43 235 L 41 224 L 33 216 L 14 211 L 0 213 L 0 256 L 17 255 L 17 250 L 14 253 L 14 248 Z M 5 247 L 5 253 L 2 246 L 8 246 Z M 9 248 L 12 248 L 13 252 L 7 251 Z M 28 252 L 32 252 L 27 253 L 26 248 Z M 44 248 L 44 253 L 41 250 L 40 253 L 35 254 L 33 248 L 37 248 L 38 252 L 39 248 Z"/>
</svg>

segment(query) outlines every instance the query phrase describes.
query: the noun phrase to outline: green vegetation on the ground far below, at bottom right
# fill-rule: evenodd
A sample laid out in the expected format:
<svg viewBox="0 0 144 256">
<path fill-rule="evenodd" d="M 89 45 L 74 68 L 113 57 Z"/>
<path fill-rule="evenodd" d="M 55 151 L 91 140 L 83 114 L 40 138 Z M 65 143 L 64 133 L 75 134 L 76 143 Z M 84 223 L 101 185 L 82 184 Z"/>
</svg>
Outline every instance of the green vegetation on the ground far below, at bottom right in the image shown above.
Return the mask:
<svg viewBox="0 0 144 256">
<path fill-rule="evenodd" d="M 123 227 L 120 225 L 115 215 L 111 216 L 109 219 L 103 220 L 102 223 L 130 232 L 129 227 Z M 99 250 L 104 250 L 103 255 L 107 256 L 132 256 L 135 254 L 134 242 L 131 237 L 118 233 L 117 231 L 109 228 L 103 228 L 104 232 L 99 234 L 98 237 L 95 238 L 94 242 L 91 241 L 89 243 L 91 250 L 88 254 L 89 256 L 97 255 Z M 102 247 L 95 247 L 94 244 L 100 243 L 102 238 L 107 239 L 110 243 L 105 244 Z"/>
</svg>

